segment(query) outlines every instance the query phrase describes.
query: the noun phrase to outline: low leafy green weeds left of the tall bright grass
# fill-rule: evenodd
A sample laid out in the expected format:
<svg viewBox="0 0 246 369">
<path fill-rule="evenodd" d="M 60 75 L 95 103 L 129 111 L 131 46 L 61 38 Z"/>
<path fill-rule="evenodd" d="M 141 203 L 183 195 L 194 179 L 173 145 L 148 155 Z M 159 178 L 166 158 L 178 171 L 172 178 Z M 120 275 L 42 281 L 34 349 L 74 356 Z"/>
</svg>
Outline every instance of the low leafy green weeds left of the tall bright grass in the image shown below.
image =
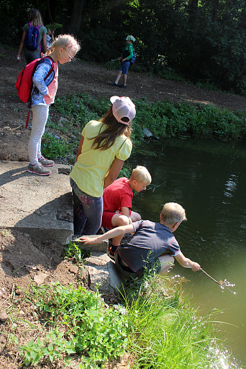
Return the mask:
<svg viewBox="0 0 246 369">
<path fill-rule="evenodd" d="M 53 283 L 33 287 L 29 299 L 51 328 L 44 339 L 20 345 L 26 365 L 58 359 L 68 363 L 71 354 L 77 353 L 80 368 L 96 369 L 123 354 L 128 342 L 125 316 L 121 310 L 105 309 L 98 291 Z"/>
</svg>

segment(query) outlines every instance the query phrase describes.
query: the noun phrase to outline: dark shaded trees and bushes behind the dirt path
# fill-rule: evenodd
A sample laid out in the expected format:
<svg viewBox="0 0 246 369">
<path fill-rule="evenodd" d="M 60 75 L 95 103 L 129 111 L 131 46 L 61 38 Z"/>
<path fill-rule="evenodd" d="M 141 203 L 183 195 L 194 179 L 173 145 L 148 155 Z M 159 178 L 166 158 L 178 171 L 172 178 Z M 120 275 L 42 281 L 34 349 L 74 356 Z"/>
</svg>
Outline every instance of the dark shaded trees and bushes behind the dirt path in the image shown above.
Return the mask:
<svg viewBox="0 0 246 369">
<path fill-rule="evenodd" d="M 135 71 L 246 93 L 244 0 L 88 0 L 80 10 L 77 1 L 3 0 L 0 42 L 17 48 L 32 6 L 38 6 L 44 24 L 76 33 L 85 60 L 111 65 L 122 55 L 128 32 L 137 38 Z"/>
</svg>

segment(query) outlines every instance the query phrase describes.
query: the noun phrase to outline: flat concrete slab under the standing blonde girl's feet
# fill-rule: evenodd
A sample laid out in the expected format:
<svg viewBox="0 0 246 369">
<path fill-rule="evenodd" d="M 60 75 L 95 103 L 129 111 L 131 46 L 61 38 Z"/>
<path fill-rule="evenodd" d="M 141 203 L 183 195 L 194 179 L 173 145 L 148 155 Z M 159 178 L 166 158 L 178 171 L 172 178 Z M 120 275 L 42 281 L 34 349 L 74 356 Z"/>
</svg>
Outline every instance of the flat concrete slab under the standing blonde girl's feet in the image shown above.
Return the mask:
<svg viewBox="0 0 246 369">
<path fill-rule="evenodd" d="M 49 176 L 28 173 L 27 166 L 0 162 L 0 227 L 67 244 L 73 235 L 70 165 L 53 165 Z"/>
</svg>

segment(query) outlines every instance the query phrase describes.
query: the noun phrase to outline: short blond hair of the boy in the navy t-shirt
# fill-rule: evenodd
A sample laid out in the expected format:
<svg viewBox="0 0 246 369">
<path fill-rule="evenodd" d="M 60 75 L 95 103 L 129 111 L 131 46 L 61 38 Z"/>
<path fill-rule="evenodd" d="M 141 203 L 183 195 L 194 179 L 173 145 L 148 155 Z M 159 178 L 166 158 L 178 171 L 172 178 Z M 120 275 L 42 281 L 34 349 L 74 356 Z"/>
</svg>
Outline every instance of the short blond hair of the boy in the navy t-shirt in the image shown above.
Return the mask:
<svg viewBox="0 0 246 369">
<path fill-rule="evenodd" d="M 161 210 L 161 221 L 168 226 L 173 226 L 175 223 L 181 223 L 186 219 L 185 210 L 176 202 L 168 202 Z"/>
</svg>

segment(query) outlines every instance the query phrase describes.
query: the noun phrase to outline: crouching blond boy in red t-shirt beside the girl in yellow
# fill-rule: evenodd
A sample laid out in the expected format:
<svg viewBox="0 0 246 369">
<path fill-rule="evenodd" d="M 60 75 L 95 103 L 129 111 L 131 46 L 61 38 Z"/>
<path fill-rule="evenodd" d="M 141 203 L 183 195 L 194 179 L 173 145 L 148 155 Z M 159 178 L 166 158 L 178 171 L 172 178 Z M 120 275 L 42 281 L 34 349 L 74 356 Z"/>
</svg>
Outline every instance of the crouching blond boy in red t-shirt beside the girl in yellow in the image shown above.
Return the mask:
<svg viewBox="0 0 246 369">
<path fill-rule="evenodd" d="M 132 211 L 132 190 L 137 192 L 146 190 L 151 180 L 148 170 L 138 165 L 137 168 L 132 170 L 130 179 L 121 177 L 105 188 L 103 192 L 102 226 L 105 228 L 114 228 L 126 226 L 140 220 L 141 215 Z M 108 253 L 110 258 L 114 258 L 114 252 L 120 244 L 122 237 L 121 235 L 112 239 L 112 246 Z"/>
</svg>

